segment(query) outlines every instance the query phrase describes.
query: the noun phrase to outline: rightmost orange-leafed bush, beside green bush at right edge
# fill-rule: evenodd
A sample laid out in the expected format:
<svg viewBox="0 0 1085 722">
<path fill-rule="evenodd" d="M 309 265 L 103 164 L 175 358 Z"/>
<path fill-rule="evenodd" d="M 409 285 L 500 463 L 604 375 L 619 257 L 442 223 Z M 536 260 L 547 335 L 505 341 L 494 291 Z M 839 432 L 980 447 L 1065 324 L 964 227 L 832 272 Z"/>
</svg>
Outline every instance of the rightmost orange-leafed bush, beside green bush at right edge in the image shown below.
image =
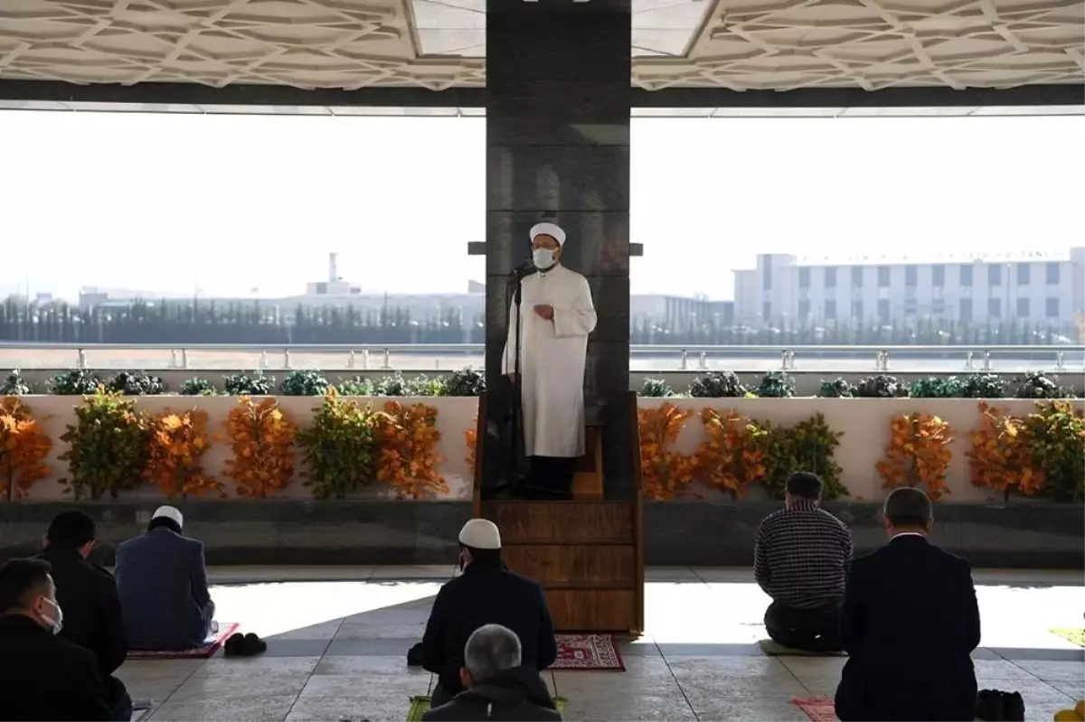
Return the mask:
<svg viewBox="0 0 1085 722">
<path fill-rule="evenodd" d="M 1033 438 L 1026 420 L 1005 407 L 980 402 L 980 428 L 971 434 L 972 484 L 1009 499 L 1011 491 L 1032 497 L 1044 488 L 1044 469 L 1033 460 Z"/>
</svg>

